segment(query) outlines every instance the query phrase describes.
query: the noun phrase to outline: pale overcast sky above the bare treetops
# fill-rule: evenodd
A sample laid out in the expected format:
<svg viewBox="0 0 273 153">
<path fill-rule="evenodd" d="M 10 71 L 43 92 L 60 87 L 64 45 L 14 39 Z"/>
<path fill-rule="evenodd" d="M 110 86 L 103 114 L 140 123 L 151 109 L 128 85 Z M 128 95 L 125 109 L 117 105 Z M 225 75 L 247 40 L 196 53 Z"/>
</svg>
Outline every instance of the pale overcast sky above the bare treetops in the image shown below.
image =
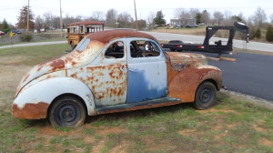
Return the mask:
<svg viewBox="0 0 273 153">
<path fill-rule="evenodd" d="M 5 20 L 15 25 L 19 10 L 27 5 L 28 0 L 0 0 L 0 22 Z M 51 12 L 60 15 L 59 0 L 29 0 L 35 16 Z M 242 13 L 244 17 L 254 15 L 258 6 L 265 10 L 268 19 L 273 14 L 273 0 L 136 0 L 137 18 L 147 19 L 151 12 L 162 10 L 167 23 L 175 16 L 177 8 L 198 8 L 200 11 L 207 9 L 213 14 L 215 11 L 224 13 L 226 10 L 233 15 Z M 91 16 L 94 11 L 102 11 L 114 8 L 118 13 L 128 12 L 134 15 L 134 0 L 62 0 L 63 16 L 82 15 Z"/>
</svg>

